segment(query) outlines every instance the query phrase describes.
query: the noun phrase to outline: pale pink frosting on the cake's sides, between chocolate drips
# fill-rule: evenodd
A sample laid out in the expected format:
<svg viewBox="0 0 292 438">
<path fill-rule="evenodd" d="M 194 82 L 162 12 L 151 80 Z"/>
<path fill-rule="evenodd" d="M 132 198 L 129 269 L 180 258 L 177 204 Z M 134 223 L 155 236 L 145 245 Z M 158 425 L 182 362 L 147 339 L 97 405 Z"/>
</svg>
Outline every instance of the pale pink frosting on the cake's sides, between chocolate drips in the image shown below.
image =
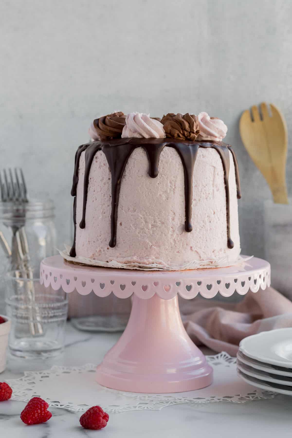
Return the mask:
<svg viewBox="0 0 292 438">
<path fill-rule="evenodd" d="M 146 131 L 143 124 L 139 131 L 139 124 L 141 120 L 149 120 L 143 120 L 141 115 L 137 121 L 134 118 L 128 117 L 131 120 L 129 127 L 136 130 L 131 132 L 142 135 L 141 132 Z M 159 122 L 152 122 L 158 126 Z M 217 138 L 218 132 L 219 129 L 216 131 Z M 171 147 L 165 147 L 161 153 L 156 178 L 148 175 L 148 159 L 142 147 L 136 148 L 130 155 L 121 181 L 117 239 L 116 246 L 112 248 L 109 247 L 111 173 L 105 154 L 96 152 L 89 173 L 86 226 L 81 229 L 77 225 L 76 230 L 76 261 L 78 257 L 85 257 L 104 262 L 157 263 L 164 268 L 184 268 L 197 262 L 208 266 L 225 259 L 232 265 L 239 256 L 240 242 L 231 152 L 229 156 L 232 249 L 227 247 L 224 172 L 218 152 L 212 148 L 200 148 L 198 151 L 193 173 L 193 231 L 187 233 L 184 230 L 183 165 L 179 154 Z M 82 217 L 84 169 L 82 152 L 76 198 L 77 224 Z"/>
</svg>

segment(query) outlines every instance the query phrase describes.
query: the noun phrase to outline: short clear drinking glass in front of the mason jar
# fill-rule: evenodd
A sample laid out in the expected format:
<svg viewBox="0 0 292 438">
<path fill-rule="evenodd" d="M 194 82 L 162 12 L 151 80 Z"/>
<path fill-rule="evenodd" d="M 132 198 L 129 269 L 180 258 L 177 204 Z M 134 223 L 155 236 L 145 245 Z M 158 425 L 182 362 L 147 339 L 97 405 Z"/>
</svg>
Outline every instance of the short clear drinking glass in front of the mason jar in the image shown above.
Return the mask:
<svg viewBox="0 0 292 438">
<path fill-rule="evenodd" d="M 6 311 L 12 322 L 8 345 L 14 356 L 46 359 L 64 348 L 67 294 L 62 288 L 45 288 L 38 275 L 12 271 L 5 276 Z"/>
</svg>

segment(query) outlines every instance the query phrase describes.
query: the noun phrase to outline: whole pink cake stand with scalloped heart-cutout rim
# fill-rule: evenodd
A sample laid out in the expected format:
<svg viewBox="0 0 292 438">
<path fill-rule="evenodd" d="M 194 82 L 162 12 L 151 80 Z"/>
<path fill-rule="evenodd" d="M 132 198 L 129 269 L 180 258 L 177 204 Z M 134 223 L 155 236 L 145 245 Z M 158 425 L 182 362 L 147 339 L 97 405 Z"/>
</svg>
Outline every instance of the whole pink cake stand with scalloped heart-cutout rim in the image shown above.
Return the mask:
<svg viewBox="0 0 292 438">
<path fill-rule="evenodd" d="M 228 268 L 141 271 L 74 265 L 56 255 L 40 267 L 41 283 L 54 290 L 133 295 L 127 327 L 97 367 L 96 380 L 108 388 L 146 393 L 191 391 L 212 383 L 212 368 L 183 327 L 178 293 L 187 300 L 198 293 L 204 298 L 244 295 L 265 289 L 270 278 L 270 265 L 260 258 Z"/>
</svg>

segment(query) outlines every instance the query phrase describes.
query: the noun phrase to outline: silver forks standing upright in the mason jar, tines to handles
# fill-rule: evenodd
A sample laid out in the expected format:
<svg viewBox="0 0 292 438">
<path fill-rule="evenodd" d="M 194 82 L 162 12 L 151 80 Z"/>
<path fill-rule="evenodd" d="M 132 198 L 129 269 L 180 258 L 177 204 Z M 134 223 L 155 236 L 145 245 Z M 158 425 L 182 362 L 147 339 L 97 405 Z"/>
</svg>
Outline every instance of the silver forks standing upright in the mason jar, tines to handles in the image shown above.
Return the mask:
<svg viewBox="0 0 292 438">
<path fill-rule="evenodd" d="M 12 170 L 3 170 L 4 177 L 0 173 L 0 189 L 1 201 L 13 202 L 17 205 L 17 221 L 11 226 L 12 229 L 12 243 L 11 243 L 11 265 L 16 271 L 22 269 L 25 272 L 27 279 L 33 279 L 33 272 L 30 265 L 28 240 L 25 233 L 25 204 L 28 202 L 28 193 L 25 184 L 24 174 L 22 169 L 14 169 L 14 176 Z M 3 233 L 1 233 L 3 234 Z M 0 236 L 2 237 L 2 236 Z M 3 245 L 7 247 L 8 244 L 2 239 Z M 9 246 L 8 246 L 9 248 Z M 9 251 L 8 251 L 9 252 Z M 27 282 L 28 298 L 32 303 L 35 303 L 35 288 L 33 281 Z M 32 322 L 29 324 L 29 329 L 32 335 L 42 335 L 43 329 L 41 324 L 41 317 L 39 308 L 33 307 Z"/>
</svg>

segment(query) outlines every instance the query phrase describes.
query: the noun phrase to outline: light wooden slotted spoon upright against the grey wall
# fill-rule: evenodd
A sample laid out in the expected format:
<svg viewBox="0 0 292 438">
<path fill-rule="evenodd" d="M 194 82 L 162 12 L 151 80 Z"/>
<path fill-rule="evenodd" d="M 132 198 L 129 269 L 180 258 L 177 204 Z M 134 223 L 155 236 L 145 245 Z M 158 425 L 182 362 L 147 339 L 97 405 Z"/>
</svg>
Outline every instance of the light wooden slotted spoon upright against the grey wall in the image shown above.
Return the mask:
<svg viewBox="0 0 292 438">
<path fill-rule="evenodd" d="M 288 204 L 286 158 L 288 134 L 285 119 L 278 108 L 265 102 L 246 109 L 239 121 L 239 132 L 254 164 L 264 175 L 276 204 Z"/>
</svg>

